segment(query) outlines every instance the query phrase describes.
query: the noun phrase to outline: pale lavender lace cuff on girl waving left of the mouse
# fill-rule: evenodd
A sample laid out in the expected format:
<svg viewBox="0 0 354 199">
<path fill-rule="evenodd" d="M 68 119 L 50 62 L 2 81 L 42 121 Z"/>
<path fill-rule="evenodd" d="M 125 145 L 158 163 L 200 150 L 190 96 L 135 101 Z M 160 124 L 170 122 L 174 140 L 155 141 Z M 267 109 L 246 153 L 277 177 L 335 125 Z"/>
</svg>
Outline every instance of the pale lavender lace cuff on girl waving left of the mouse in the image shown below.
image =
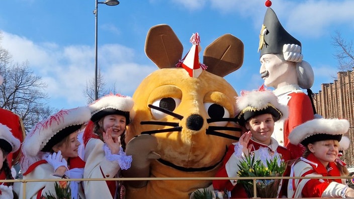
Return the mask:
<svg viewBox="0 0 354 199">
<path fill-rule="evenodd" d="M 118 162 L 121 169 L 127 170 L 128 168 L 130 168 L 130 163 L 132 162 L 132 156 L 127 155 L 123 151 L 122 147 L 120 147 L 118 154 L 112 154 L 111 149 L 108 148 L 107 144 L 103 145 L 103 150 L 105 151 L 105 157 L 107 160 Z"/>
</svg>

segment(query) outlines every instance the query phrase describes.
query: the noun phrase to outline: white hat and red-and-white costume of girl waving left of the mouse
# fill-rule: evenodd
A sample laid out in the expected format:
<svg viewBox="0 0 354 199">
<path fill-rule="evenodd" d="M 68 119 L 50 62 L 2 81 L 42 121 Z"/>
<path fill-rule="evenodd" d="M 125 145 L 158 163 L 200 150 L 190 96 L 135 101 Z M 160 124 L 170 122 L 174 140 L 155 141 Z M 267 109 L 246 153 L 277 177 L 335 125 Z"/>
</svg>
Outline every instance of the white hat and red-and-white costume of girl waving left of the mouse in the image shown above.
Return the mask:
<svg viewBox="0 0 354 199">
<path fill-rule="evenodd" d="M 83 159 L 86 162 L 83 171 L 84 178 L 116 178 L 119 177 L 120 169 L 130 168 L 131 155 L 127 156 L 121 146 L 118 154 L 112 154 L 108 145 L 99 137 L 103 132 L 94 132 L 94 129 L 95 122 L 99 123 L 99 120 L 109 115 L 124 116 L 126 125 L 129 124 L 133 106 L 134 102 L 131 97 L 112 93 L 103 96 L 88 106 L 91 109 L 92 116 L 82 138 L 85 145 Z M 103 127 L 100 128 L 102 130 Z M 118 185 L 118 182 L 113 180 L 83 182 L 87 199 L 116 198 L 117 193 L 121 195 Z"/>
</svg>

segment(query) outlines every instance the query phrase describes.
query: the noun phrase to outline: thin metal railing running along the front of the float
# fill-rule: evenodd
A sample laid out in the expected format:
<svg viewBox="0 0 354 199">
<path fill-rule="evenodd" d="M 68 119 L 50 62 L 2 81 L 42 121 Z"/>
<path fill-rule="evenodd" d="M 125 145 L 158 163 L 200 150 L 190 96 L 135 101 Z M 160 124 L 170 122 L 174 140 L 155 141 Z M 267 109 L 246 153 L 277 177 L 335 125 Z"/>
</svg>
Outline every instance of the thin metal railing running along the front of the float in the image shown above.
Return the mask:
<svg viewBox="0 0 354 199">
<path fill-rule="evenodd" d="M 22 182 L 23 199 L 26 199 L 26 185 L 28 182 L 41 181 L 134 181 L 134 180 L 253 180 L 253 198 L 257 197 L 256 180 L 258 179 L 353 179 L 352 176 L 308 176 L 308 177 L 289 177 L 289 176 L 269 176 L 269 177 L 121 177 L 121 178 L 60 178 L 60 179 L 12 179 L 0 180 L 2 182 Z"/>
</svg>

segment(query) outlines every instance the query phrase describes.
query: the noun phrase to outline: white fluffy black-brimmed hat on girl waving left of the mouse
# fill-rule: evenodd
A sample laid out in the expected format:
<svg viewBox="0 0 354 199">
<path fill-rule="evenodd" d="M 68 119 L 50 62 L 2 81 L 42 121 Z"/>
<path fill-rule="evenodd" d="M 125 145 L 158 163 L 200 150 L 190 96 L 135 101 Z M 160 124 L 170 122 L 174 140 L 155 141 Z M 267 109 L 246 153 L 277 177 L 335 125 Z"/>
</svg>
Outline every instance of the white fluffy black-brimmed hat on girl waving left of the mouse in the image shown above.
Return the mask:
<svg viewBox="0 0 354 199">
<path fill-rule="evenodd" d="M 126 118 L 126 124 L 129 124 L 135 116 L 133 106 L 131 97 L 111 93 L 88 105 L 88 108 L 91 110 L 92 122 L 97 122 L 108 115 L 121 115 Z"/>
</svg>

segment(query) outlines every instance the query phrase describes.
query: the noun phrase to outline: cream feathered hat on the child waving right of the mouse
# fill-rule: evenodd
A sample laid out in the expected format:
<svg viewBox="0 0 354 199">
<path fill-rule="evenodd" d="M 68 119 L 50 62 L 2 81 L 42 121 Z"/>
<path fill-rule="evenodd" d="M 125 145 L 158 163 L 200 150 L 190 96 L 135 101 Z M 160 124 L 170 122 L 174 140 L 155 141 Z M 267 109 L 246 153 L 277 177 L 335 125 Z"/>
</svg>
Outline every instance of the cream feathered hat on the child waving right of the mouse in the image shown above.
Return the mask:
<svg viewBox="0 0 354 199">
<path fill-rule="evenodd" d="M 258 90 L 241 91 L 236 97 L 236 121 L 244 126 L 251 118 L 272 114 L 275 121 L 288 118 L 288 107 L 278 102 L 278 97 L 262 85 Z"/>
</svg>

